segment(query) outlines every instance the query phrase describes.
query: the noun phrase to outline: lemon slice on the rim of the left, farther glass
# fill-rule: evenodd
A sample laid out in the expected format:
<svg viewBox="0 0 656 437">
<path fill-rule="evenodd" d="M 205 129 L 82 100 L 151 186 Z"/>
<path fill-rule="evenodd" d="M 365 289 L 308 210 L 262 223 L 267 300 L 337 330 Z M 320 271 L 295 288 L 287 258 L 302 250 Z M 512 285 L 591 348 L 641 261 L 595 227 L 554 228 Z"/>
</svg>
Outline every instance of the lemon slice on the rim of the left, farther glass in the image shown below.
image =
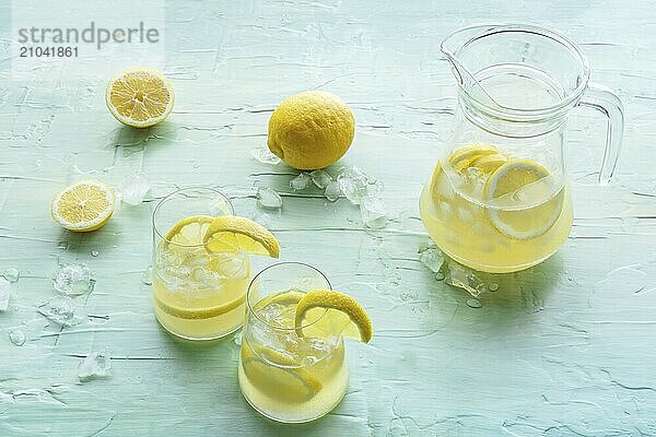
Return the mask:
<svg viewBox="0 0 656 437">
<path fill-rule="evenodd" d="M 246 217 L 216 217 L 207 228 L 202 243 L 210 253 L 244 250 L 271 258 L 280 256 L 278 240 L 266 227 Z"/>
</svg>

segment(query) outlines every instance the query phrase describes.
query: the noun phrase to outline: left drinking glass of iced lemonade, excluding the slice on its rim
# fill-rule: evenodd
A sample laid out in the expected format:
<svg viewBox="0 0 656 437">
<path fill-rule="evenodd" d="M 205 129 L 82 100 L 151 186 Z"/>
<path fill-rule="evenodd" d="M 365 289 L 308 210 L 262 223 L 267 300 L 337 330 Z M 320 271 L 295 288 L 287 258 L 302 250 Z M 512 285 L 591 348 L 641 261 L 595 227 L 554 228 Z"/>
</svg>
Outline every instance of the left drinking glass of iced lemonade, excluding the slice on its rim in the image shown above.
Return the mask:
<svg viewBox="0 0 656 437">
<path fill-rule="evenodd" d="M 233 215 L 230 200 L 211 188 L 186 188 L 153 212 L 153 305 L 164 329 L 188 340 L 212 340 L 244 321 L 249 260 L 243 251 L 208 253 L 211 221 Z"/>
</svg>

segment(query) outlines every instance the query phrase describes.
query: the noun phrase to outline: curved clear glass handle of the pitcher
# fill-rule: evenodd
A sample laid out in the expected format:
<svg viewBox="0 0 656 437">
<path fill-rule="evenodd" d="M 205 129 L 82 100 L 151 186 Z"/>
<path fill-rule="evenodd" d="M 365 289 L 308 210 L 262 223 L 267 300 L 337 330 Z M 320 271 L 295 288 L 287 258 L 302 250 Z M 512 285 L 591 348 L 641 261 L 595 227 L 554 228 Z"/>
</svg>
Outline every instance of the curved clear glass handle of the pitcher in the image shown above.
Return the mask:
<svg viewBox="0 0 656 437">
<path fill-rule="evenodd" d="M 606 149 L 599 172 L 599 185 L 608 185 L 618 165 L 624 134 L 624 106 L 620 98 L 609 88 L 589 83 L 579 106 L 597 109 L 608 117 L 606 130 Z"/>
</svg>

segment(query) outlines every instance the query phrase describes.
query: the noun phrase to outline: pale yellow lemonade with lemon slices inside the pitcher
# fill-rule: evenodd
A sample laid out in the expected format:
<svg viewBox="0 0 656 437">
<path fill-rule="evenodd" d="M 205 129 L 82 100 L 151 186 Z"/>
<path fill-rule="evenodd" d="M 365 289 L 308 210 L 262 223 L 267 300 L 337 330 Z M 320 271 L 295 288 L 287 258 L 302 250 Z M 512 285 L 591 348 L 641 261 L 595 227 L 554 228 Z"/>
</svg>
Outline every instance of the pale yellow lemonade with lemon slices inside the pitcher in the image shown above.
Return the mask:
<svg viewBox="0 0 656 437">
<path fill-rule="evenodd" d="M 570 193 L 541 164 L 492 144 L 461 146 L 445 161 L 420 211 L 433 240 L 456 261 L 493 273 L 520 270 L 570 235 Z"/>
</svg>

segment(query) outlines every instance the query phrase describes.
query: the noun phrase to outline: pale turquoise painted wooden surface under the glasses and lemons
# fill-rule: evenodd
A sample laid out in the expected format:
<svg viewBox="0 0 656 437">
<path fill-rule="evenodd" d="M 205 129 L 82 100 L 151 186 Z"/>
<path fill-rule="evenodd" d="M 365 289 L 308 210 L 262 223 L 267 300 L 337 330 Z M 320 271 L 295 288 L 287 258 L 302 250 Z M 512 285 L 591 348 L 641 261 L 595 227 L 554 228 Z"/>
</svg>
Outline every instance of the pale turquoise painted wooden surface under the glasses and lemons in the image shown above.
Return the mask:
<svg viewBox="0 0 656 437">
<path fill-rule="evenodd" d="M 120 54 L 113 71 L 70 76 L 55 63 L 12 79 L 12 5 L 0 5 L 0 267 L 21 273 L 0 312 L 1 436 L 656 435 L 651 2 L 157 4 L 165 58 L 152 66 L 172 79 L 177 102 L 166 122 L 143 131 L 105 108 L 108 76 L 128 67 Z M 61 25 L 67 13 L 52 11 Z M 542 265 L 495 279 L 500 290 L 470 308 L 464 291 L 419 263 L 427 237 L 418 197 L 456 91 L 440 42 L 464 25 L 507 21 L 548 25 L 581 44 L 593 80 L 624 102 L 624 151 L 616 182 L 597 187 L 605 120 L 573 115 L 571 237 Z M 385 229 L 366 231 L 345 199 L 292 192 L 297 172 L 250 157 L 276 105 L 308 88 L 337 93 L 353 109 L 355 141 L 339 165 L 384 180 L 394 217 Z M 118 186 L 138 170 L 152 182 L 145 202 L 121 204 L 101 231 L 75 235 L 50 221 L 50 199 L 69 182 L 91 175 Z M 155 322 L 141 282 L 151 211 L 195 184 L 221 187 L 237 213 L 260 220 L 256 188 L 277 189 L 284 205 L 267 222 L 282 259 L 318 267 L 370 310 L 375 339 L 348 345 L 351 388 L 325 418 L 261 418 L 239 393 L 232 336 L 184 342 Z M 75 299 L 83 323 L 60 329 L 37 308 L 55 297 L 50 277 L 66 262 L 86 263 L 96 282 Z M 9 338 L 16 329 L 22 346 Z M 80 362 L 101 349 L 112 377 L 80 382 Z"/>
</svg>

